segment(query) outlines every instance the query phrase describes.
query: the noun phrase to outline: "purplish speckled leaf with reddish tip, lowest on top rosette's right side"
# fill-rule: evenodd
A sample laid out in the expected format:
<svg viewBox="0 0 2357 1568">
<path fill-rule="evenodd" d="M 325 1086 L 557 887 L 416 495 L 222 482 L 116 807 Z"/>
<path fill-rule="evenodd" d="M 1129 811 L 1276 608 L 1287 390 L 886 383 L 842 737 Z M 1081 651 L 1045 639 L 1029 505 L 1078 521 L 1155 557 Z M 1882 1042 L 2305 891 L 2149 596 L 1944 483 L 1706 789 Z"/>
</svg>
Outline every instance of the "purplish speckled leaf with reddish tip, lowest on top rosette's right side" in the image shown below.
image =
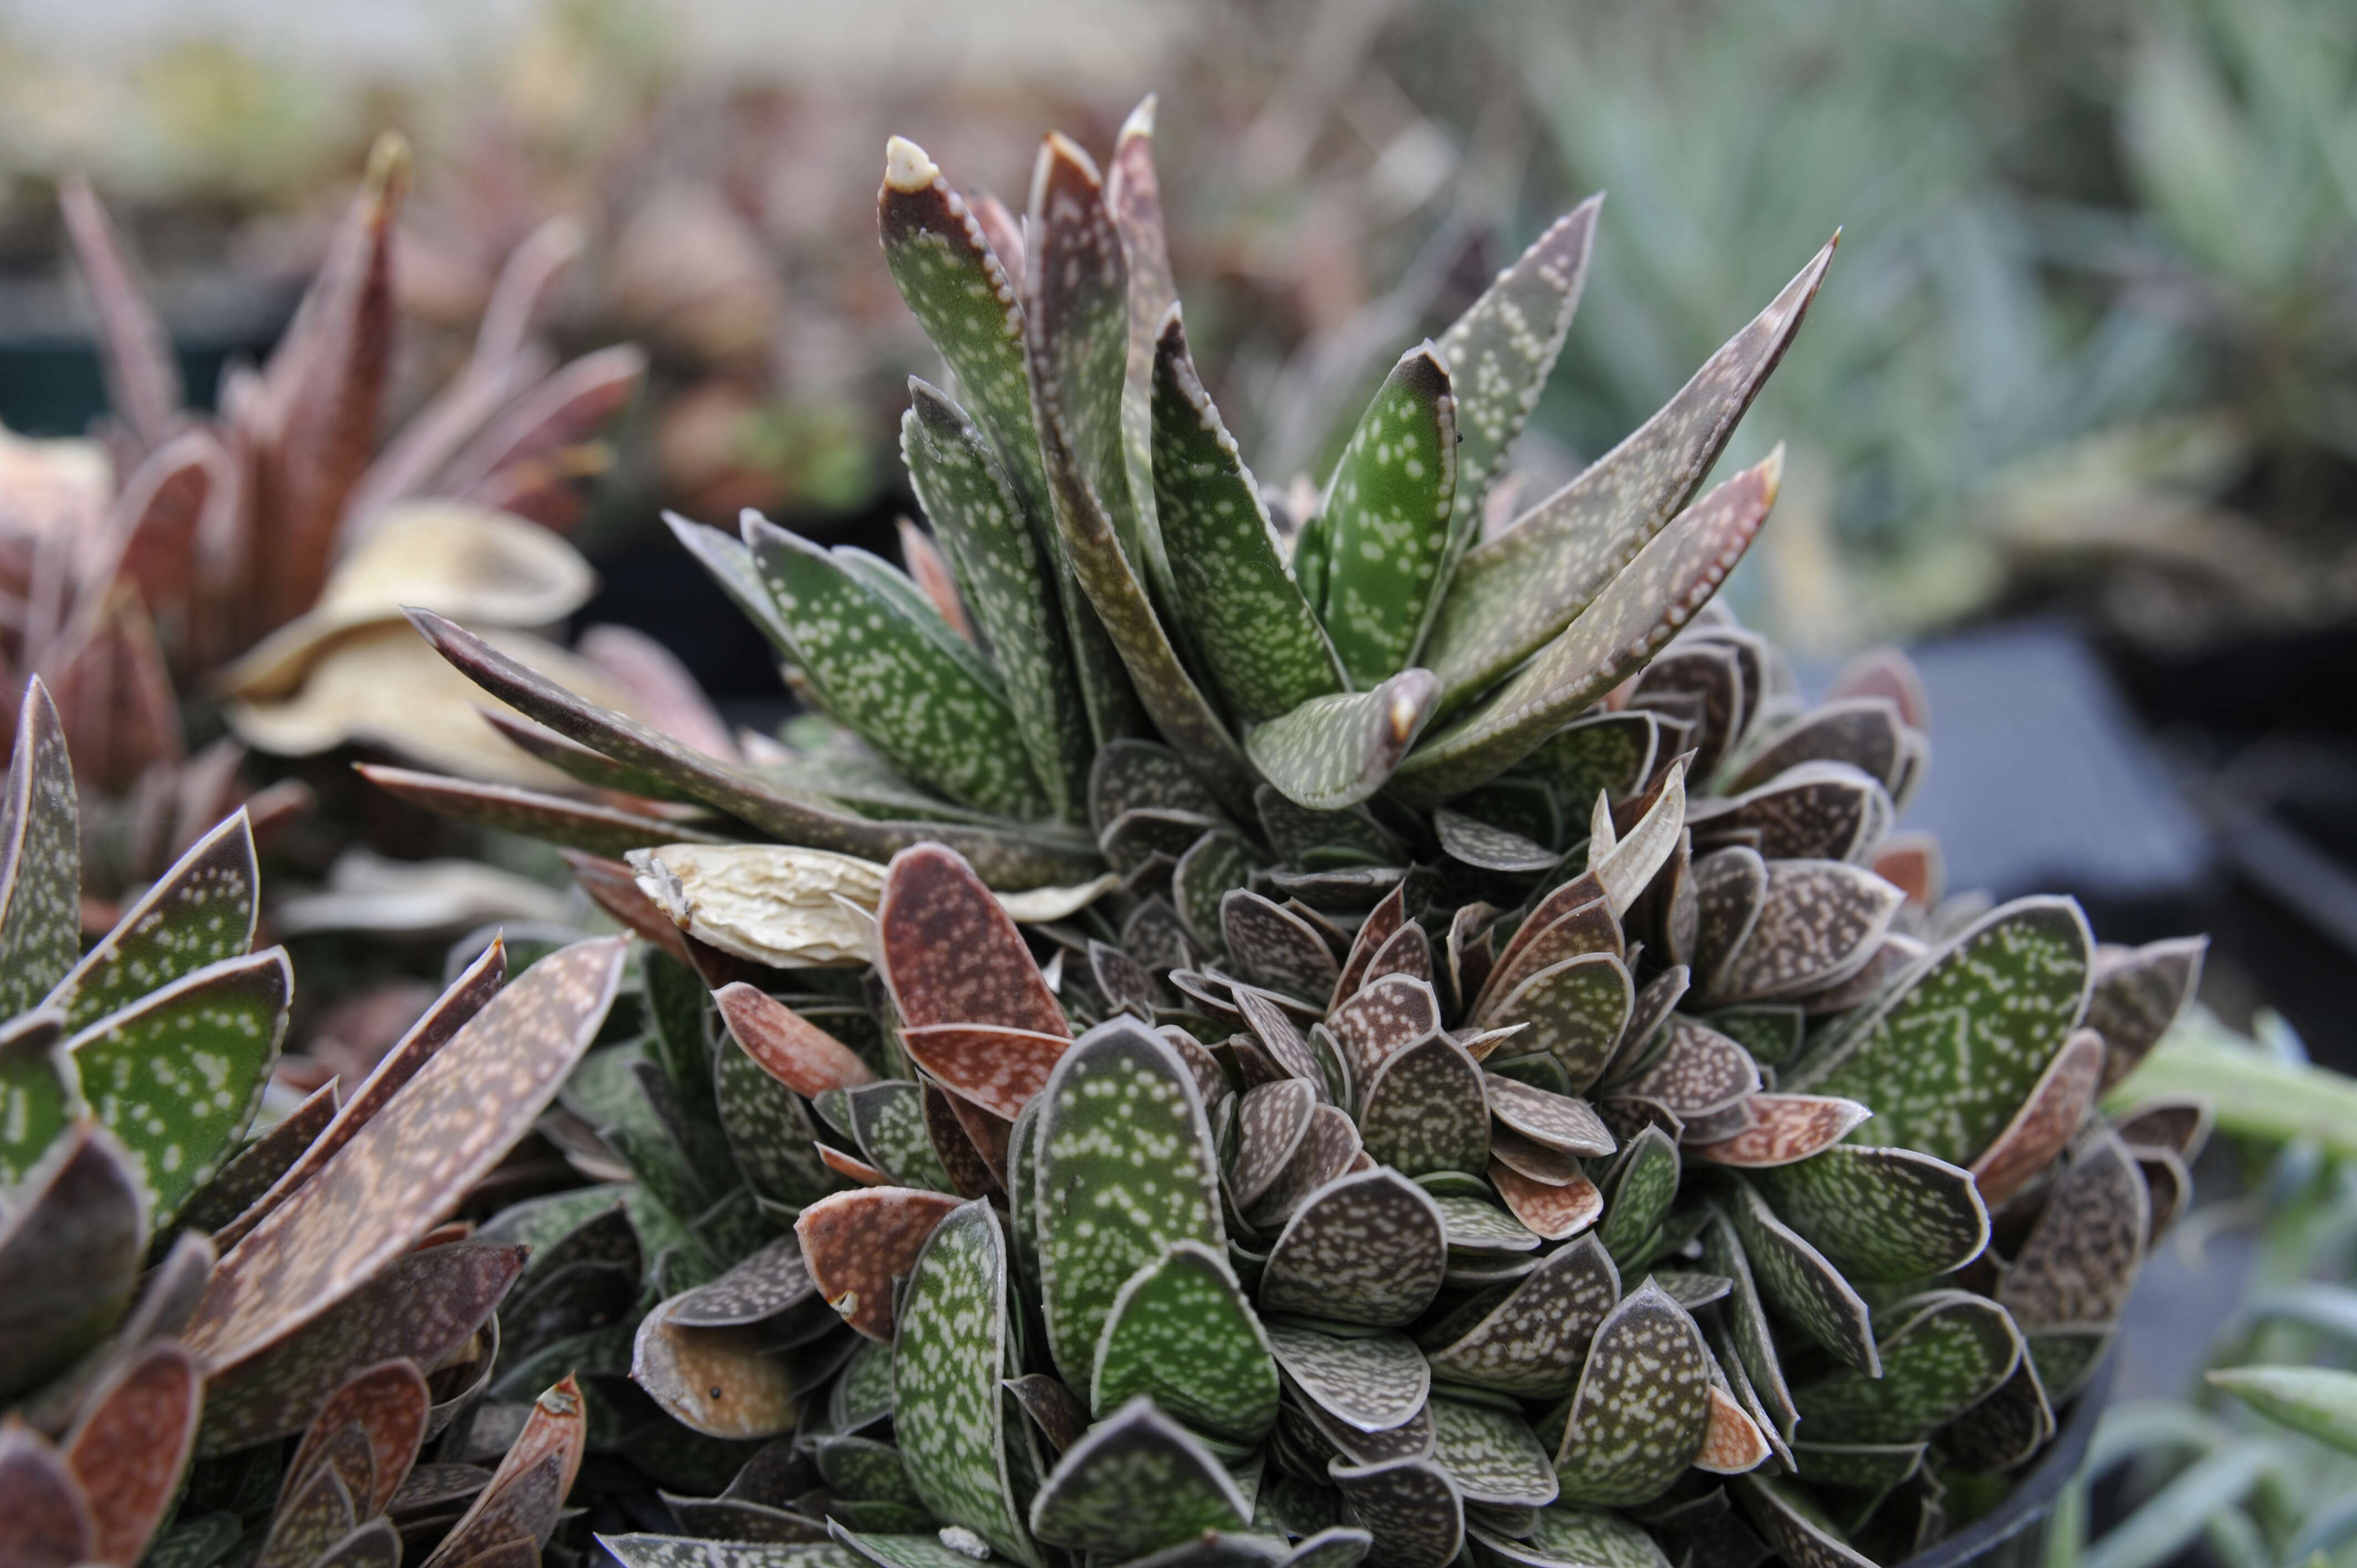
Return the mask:
<svg viewBox="0 0 2357 1568">
<path fill-rule="evenodd" d="M 1589 472 L 1593 474 L 1610 462 L 1612 457 L 1605 455 Z M 1697 500 L 1636 552 L 1636 559 L 1619 575 L 1603 582 L 1577 618 L 1539 648 L 1537 658 L 1511 677 L 1497 696 L 1426 738 L 1400 764 L 1393 792 L 1409 804 L 1431 806 L 1487 783 L 1530 757 L 1565 722 L 1640 670 L 1678 627 L 1711 601 L 1718 585 L 1735 571 L 1751 535 L 1768 521 L 1782 474 L 1784 450 L 1777 448 L 1758 467 L 1744 469 Z M 1504 542 L 1499 540 L 1499 545 Z M 1459 592 L 1480 556 L 1483 552 L 1475 549 L 1464 559 L 1457 578 Z M 1523 582 L 1516 589 L 1537 592 Z M 1450 601 L 1442 604 L 1440 625 L 1433 630 L 1435 658 L 1459 592 L 1452 592 Z M 1523 651 L 1516 653 L 1516 658 L 1520 655 Z M 1447 672 L 1440 674 L 1440 681 L 1442 693 L 1457 691 Z"/>
</svg>

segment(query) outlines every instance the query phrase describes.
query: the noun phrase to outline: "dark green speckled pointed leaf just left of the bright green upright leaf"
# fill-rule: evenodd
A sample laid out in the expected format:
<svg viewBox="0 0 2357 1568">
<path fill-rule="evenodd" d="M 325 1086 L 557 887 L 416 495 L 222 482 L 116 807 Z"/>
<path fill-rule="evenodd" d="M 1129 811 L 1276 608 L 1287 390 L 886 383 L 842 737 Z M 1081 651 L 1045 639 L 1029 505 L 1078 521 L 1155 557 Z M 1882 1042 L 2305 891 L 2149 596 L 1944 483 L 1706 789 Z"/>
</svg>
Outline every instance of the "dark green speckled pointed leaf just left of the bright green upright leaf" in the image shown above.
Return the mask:
<svg viewBox="0 0 2357 1568">
<path fill-rule="evenodd" d="M 1235 436 L 1211 406 L 1171 309 L 1155 354 L 1155 498 L 1176 608 L 1219 696 L 1244 724 L 1346 689 Z"/>
</svg>

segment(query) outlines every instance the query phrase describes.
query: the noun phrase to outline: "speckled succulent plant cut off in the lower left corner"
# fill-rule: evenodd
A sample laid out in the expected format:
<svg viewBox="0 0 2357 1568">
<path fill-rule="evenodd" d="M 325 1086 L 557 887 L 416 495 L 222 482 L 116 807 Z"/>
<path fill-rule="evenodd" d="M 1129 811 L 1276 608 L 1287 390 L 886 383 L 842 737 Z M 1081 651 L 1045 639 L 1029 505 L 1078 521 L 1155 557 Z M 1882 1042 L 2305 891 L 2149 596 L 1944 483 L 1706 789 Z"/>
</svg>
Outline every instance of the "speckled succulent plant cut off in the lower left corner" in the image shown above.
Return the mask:
<svg viewBox="0 0 2357 1568">
<path fill-rule="evenodd" d="M 429 1530 L 429 1561 L 533 1561 L 585 1408 L 556 1382 L 519 1424 L 445 1431 L 490 1379 L 490 1313 L 526 1254 L 438 1221 L 587 1049 L 620 943 L 542 957 L 504 990 L 495 943 L 351 1096 L 330 1080 L 247 1137 L 292 971 L 280 948 L 250 953 L 245 813 L 80 953 L 73 764 L 38 679 L 19 707 L 0 816 L 0 1561 L 391 1568 Z M 507 1457 L 412 1469 L 429 1441 Z"/>
</svg>

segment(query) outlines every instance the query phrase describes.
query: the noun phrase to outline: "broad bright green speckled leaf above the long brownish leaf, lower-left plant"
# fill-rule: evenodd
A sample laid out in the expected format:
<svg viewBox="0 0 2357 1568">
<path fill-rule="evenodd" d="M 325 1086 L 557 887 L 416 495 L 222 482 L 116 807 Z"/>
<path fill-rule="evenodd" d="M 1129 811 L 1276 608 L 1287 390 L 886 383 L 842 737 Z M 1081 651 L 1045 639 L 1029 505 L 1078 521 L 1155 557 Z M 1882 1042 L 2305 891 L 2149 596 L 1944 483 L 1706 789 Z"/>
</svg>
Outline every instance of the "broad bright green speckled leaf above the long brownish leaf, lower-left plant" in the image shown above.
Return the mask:
<svg viewBox="0 0 2357 1568">
<path fill-rule="evenodd" d="M 278 1063 L 295 969 L 285 948 L 231 957 L 66 1042 L 82 1096 L 132 1155 L 158 1228 L 229 1158 Z"/>
</svg>

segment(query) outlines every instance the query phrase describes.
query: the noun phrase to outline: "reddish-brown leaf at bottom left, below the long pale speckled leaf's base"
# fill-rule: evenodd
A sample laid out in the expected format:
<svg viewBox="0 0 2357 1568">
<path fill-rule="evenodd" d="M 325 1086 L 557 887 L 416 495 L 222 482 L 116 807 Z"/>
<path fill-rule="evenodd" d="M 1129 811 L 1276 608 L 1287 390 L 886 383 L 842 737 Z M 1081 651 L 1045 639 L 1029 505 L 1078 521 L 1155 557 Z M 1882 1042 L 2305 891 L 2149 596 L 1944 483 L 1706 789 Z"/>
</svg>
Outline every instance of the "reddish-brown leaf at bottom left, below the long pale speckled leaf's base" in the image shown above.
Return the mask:
<svg viewBox="0 0 2357 1568">
<path fill-rule="evenodd" d="M 137 1563 L 146 1551 L 196 1445 L 200 1403 L 203 1375 L 172 1339 L 148 1344 L 90 1394 L 61 1443 L 97 1526 L 90 1561 Z M 12 1504 L 0 1497 L 5 1507 Z"/>
</svg>

